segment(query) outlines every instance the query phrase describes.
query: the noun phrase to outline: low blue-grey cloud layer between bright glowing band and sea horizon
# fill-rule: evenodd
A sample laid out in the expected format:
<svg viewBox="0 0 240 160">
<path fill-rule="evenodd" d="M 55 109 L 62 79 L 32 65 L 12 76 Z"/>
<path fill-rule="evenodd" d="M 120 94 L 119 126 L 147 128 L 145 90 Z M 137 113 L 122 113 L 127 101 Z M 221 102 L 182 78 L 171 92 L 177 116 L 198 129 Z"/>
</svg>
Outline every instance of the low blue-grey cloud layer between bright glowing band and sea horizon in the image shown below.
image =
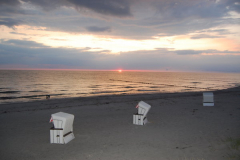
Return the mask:
<svg viewBox="0 0 240 160">
<path fill-rule="evenodd" d="M 32 41 L 2 41 L 0 43 L 1 65 L 27 65 L 34 68 L 67 68 L 75 69 L 143 69 L 182 71 L 224 71 L 239 72 L 239 56 L 208 55 L 194 56 L 201 53 L 233 53 L 218 50 L 177 50 L 158 49 L 154 51 L 132 51 L 119 55 L 107 54 L 108 51 L 92 52 L 91 48 L 67 49 L 50 48 Z M 28 45 L 35 46 L 33 48 Z M 240 53 L 240 52 L 235 52 Z"/>
</svg>

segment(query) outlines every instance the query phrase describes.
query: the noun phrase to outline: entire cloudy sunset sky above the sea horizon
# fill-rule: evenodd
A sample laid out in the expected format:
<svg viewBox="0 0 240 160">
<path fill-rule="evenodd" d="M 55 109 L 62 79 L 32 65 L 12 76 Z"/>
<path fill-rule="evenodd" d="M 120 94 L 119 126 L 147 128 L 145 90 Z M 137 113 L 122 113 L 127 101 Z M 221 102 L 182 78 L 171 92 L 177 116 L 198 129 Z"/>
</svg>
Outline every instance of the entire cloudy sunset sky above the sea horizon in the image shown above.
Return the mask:
<svg viewBox="0 0 240 160">
<path fill-rule="evenodd" d="M 240 73 L 240 0 L 0 0 L 0 69 Z"/>
</svg>

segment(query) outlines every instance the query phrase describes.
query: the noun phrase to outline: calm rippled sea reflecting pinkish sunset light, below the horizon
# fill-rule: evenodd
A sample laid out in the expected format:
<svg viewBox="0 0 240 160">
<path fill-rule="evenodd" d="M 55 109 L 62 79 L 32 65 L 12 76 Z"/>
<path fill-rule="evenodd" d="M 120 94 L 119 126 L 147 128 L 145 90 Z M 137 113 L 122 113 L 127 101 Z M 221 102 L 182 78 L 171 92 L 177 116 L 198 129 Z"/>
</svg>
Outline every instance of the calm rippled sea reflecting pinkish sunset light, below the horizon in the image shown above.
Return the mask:
<svg viewBox="0 0 240 160">
<path fill-rule="evenodd" d="M 0 70 L 0 104 L 52 98 L 213 91 L 240 84 L 240 74 Z"/>
</svg>

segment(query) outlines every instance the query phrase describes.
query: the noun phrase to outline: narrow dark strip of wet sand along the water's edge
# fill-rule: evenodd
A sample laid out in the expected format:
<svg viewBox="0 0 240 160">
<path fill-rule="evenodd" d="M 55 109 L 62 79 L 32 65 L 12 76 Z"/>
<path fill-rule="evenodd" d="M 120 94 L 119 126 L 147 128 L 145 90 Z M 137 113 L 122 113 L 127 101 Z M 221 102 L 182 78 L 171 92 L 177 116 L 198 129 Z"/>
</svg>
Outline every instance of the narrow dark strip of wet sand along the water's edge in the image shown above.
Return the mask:
<svg viewBox="0 0 240 160">
<path fill-rule="evenodd" d="M 9 103 L 3 103 L 0 104 L 0 114 L 5 112 L 4 109 L 7 108 L 15 108 L 15 106 L 20 105 L 31 105 L 34 103 L 41 103 L 41 104 L 54 104 L 54 103 L 60 103 L 60 102 L 70 102 L 70 101 L 86 101 L 83 105 L 94 105 L 95 103 L 92 102 L 92 100 L 97 99 L 100 101 L 100 99 L 104 99 L 106 102 L 102 103 L 110 103 L 108 101 L 111 101 L 112 99 L 117 100 L 121 98 L 128 99 L 127 101 L 132 101 L 134 97 L 141 99 L 141 100 L 153 100 L 153 99 L 161 99 L 161 98 L 174 98 L 174 97 L 185 97 L 185 96 L 202 96 L 203 92 L 213 92 L 215 94 L 221 94 L 221 93 L 228 93 L 228 92 L 238 92 L 240 91 L 240 86 L 227 88 L 223 90 L 215 90 L 215 91 L 197 91 L 197 92 L 174 92 L 174 93 L 140 93 L 140 94 L 124 94 L 124 95 L 100 95 L 100 96 L 89 96 L 89 97 L 66 97 L 66 98 L 52 98 L 52 99 L 42 99 L 42 100 L 34 100 L 34 101 L 28 101 L 28 102 L 9 102 Z M 102 100 L 103 101 L 103 100 Z M 124 100 L 124 102 L 127 102 Z M 140 101 L 140 100 L 139 100 Z M 136 100 L 137 102 L 137 100 Z M 20 109 L 19 107 L 19 109 Z M 41 109 L 41 108 L 38 108 Z M 53 109 L 53 108 L 50 108 Z M 8 112 L 8 111 L 7 111 Z"/>
</svg>

